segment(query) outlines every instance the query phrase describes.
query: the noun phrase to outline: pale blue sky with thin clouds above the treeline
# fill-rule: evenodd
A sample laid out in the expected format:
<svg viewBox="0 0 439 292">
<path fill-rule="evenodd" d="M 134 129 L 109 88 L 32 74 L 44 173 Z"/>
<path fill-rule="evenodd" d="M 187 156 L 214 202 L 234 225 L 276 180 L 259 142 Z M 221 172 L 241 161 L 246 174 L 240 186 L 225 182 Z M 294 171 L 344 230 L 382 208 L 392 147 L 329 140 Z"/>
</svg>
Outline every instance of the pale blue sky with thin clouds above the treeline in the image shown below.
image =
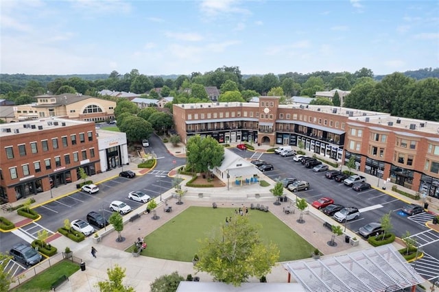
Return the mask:
<svg viewBox="0 0 439 292">
<path fill-rule="evenodd" d="M 439 66 L 439 2 L 1 0 L 1 73 L 375 74 Z"/>
</svg>

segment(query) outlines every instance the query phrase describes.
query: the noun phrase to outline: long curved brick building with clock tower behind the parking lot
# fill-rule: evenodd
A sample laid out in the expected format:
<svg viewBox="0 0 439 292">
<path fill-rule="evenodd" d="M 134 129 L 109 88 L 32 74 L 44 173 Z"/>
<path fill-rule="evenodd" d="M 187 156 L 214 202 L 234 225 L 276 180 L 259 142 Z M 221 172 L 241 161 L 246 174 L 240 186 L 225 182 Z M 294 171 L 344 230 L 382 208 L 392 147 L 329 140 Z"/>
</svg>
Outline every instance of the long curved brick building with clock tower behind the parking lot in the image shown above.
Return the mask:
<svg viewBox="0 0 439 292">
<path fill-rule="evenodd" d="M 259 103 L 174 104 L 176 131 L 219 143 L 302 146 L 327 160 L 439 197 L 439 123 L 334 106 Z"/>
</svg>

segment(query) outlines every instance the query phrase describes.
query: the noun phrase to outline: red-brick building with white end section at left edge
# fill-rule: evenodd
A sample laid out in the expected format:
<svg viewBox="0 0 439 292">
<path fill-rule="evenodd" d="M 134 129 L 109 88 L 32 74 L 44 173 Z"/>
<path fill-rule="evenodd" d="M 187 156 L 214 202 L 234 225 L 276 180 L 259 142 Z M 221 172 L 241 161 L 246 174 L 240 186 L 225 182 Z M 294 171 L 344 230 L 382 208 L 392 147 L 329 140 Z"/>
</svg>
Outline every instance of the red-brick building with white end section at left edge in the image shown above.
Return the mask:
<svg viewBox="0 0 439 292">
<path fill-rule="evenodd" d="M 95 123 L 47 118 L 0 125 L 0 201 L 15 202 L 51 187 L 128 163 L 126 134 Z"/>
</svg>

